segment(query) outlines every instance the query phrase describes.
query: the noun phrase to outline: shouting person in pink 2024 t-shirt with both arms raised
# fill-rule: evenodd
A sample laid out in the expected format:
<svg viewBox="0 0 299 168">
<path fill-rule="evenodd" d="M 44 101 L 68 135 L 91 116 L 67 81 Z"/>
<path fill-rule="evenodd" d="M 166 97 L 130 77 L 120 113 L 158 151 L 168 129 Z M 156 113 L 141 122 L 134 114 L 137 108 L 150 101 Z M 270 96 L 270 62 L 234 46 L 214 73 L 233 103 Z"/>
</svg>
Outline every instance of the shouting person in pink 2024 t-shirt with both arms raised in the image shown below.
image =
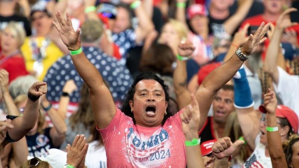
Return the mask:
<svg viewBox="0 0 299 168">
<path fill-rule="evenodd" d="M 80 29 L 74 31 L 68 14 L 66 20 L 59 11 L 56 17 L 58 23 L 53 24 L 70 50 L 79 75 L 89 88 L 97 129 L 107 150 L 107 166 L 186 167 L 180 114 L 191 118 L 191 113 L 183 109 L 171 116 L 168 86 L 164 81 L 153 73 L 140 74 L 128 91 L 122 109 L 118 109 L 99 71 L 81 50 L 81 42 L 78 41 Z M 215 92 L 233 77 L 248 55 L 265 40 L 263 35 L 268 26 L 262 23 L 255 35 L 250 35 L 244 47 L 203 81 L 195 94 L 202 116 L 199 128 L 206 120 Z M 190 44 L 182 44 L 180 55 L 190 55 L 193 49 Z M 198 142 L 192 144 L 198 145 Z"/>
</svg>

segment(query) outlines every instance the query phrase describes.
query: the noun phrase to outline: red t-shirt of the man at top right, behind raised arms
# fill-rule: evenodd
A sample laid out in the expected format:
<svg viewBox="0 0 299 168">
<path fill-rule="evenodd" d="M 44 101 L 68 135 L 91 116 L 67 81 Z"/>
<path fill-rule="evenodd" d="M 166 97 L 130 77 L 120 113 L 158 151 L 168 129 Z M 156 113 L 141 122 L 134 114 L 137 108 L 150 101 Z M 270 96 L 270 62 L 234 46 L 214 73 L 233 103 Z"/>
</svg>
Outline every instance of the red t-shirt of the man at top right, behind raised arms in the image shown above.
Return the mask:
<svg viewBox="0 0 299 168">
<path fill-rule="evenodd" d="M 259 26 L 262 22 L 265 22 L 265 24 L 268 23 L 268 21 L 263 17 L 262 14 L 260 14 L 260 15 L 256 15 L 256 16 L 254 16 L 254 17 L 249 17 L 248 19 L 246 19 L 246 20 L 242 23 L 241 28 L 243 28 L 244 25 L 247 24 L 247 23 L 249 23 L 251 26 Z M 272 22 L 272 23 L 273 23 L 274 25 L 276 24 L 276 22 Z M 289 28 L 287 28 L 287 29 L 288 29 L 288 30 L 290 30 L 290 29 L 294 29 L 294 30 L 296 31 L 296 33 L 297 33 L 297 41 L 298 41 L 298 43 L 299 43 L 299 25 L 297 24 L 297 25 L 292 26 L 292 27 L 289 27 Z M 269 43 L 270 43 L 270 41 L 267 39 L 267 40 L 265 41 L 265 46 L 268 47 Z M 265 57 L 266 57 L 266 52 L 263 52 L 262 59 L 264 60 Z"/>
</svg>

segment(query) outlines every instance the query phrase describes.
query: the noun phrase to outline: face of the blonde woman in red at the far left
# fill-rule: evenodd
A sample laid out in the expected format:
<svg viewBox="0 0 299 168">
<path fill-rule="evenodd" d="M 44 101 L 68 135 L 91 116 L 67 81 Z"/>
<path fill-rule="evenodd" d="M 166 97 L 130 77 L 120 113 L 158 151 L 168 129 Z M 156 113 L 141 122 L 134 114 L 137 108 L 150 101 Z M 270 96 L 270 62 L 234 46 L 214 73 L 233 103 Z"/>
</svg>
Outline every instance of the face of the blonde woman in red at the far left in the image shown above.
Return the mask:
<svg viewBox="0 0 299 168">
<path fill-rule="evenodd" d="M 17 38 L 11 33 L 9 29 L 4 29 L 1 33 L 1 50 L 3 51 L 15 51 L 19 48 L 19 42 Z"/>
</svg>

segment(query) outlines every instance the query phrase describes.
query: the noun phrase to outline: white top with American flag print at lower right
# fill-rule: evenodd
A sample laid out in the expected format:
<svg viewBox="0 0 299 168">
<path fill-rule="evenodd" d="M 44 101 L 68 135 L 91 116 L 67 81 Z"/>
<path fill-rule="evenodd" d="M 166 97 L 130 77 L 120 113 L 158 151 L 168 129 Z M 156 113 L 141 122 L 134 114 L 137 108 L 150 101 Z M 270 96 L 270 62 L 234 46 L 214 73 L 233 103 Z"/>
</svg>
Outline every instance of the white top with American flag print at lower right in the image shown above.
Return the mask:
<svg viewBox="0 0 299 168">
<path fill-rule="evenodd" d="M 255 138 L 255 149 L 250 157 L 243 164 L 242 168 L 269 168 L 272 167 L 271 158 L 266 157 L 265 149 L 266 146 L 260 142 L 261 133 Z"/>
</svg>

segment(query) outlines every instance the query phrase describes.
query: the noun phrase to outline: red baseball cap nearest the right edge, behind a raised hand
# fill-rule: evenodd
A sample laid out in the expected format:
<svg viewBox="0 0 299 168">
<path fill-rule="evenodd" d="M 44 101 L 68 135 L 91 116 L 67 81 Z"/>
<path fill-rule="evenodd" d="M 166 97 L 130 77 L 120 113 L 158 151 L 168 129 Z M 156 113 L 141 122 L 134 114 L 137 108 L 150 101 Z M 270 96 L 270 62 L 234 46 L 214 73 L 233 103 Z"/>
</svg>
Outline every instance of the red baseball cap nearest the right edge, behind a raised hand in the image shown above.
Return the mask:
<svg viewBox="0 0 299 168">
<path fill-rule="evenodd" d="M 267 110 L 263 105 L 259 106 L 259 111 L 262 113 L 267 113 Z M 299 120 L 295 111 L 287 106 L 278 105 L 276 108 L 276 117 L 286 118 L 292 126 L 294 133 L 298 133 Z"/>
</svg>

